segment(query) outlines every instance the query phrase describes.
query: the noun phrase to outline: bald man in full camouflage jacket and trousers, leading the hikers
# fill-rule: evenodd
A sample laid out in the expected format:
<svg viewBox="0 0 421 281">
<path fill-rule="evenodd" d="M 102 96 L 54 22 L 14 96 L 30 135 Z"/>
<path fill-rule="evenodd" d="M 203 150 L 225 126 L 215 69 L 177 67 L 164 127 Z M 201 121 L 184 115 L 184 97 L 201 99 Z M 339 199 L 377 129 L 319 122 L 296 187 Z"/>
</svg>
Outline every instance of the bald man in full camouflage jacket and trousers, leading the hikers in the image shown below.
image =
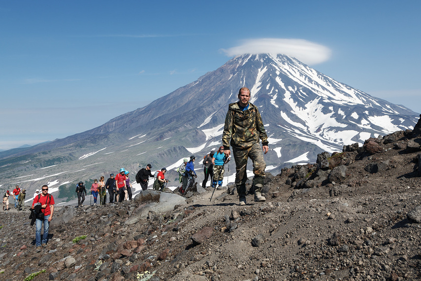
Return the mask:
<svg viewBox="0 0 421 281">
<path fill-rule="evenodd" d="M 259 109 L 250 103 L 250 98 L 250 90 L 246 87 L 241 88 L 238 92 L 239 101 L 228 105 L 222 135 L 224 153 L 227 157 L 230 155 L 229 145 L 232 146 L 236 165 L 235 185 L 240 205 L 246 205 L 248 158 L 253 161 L 255 201 L 266 201 L 266 198 L 261 195 L 266 168 L 262 151 L 266 154 L 269 147 Z M 260 148 L 259 139 L 262 141 L 262 148 Z"/>
</svg>

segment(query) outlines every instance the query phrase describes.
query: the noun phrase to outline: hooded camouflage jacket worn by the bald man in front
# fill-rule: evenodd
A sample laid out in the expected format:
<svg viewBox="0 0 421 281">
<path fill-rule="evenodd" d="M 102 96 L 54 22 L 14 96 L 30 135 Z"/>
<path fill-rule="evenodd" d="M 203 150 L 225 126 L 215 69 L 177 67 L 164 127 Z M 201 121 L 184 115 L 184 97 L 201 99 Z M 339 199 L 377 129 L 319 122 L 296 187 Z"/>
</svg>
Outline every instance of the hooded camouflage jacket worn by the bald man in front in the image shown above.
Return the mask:
<svg viewBox="0 0 421 281">
<path fill-rule="evenodd" d="M 225 117 L 222 143 L 224 149 L 229 149 L 229 144 L 236 148 L 249 148 L 255 143 L 268 145 L 263 121 L 256 105 L 249 103 L 249 108 L 241 111 L 238 102 L 228 105 Z"/>
</svg>

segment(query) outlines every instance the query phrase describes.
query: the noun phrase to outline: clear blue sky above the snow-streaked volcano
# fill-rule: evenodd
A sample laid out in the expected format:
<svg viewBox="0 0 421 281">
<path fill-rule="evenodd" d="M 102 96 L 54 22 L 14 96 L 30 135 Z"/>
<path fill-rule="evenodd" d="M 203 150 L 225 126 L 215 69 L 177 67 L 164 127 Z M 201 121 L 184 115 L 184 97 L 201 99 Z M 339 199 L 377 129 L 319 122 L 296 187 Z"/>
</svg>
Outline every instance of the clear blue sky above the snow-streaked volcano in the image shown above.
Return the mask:
<svg viewBox="0 0 421 281">
<path fill-rule="evenodd" d="M 419 0 L 2 0 L 0 149 L 95 128 L 263 38 L 315 46 L 311 67 L 421 112 L 420 12 Z"/>
</svg>

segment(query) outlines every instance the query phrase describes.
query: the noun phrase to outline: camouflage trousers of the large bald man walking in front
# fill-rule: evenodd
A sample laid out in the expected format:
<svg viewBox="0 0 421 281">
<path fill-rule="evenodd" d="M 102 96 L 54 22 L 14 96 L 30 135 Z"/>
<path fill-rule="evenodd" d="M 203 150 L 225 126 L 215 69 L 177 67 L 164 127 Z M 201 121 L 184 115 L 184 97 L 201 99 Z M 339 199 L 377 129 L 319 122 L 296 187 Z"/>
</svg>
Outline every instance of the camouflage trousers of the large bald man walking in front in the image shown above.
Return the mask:
<svg viewBox="0 0 421 281">
<path fill-rule="evenodd" d="M 263 159 L 263 151 L 259 143 L 253 144 L 250 148 L 239 149 L 232 147 L 232 153 L 234 155 L 235 166 L 236 166 L 236 175 L 235 175 L 235 185 L 237 187 L 237 192 L 239 196 L 246 195 L 246 181 L 247 181 L 247 161 L 252 159 L 253 161 L 253 173 L 255 174 L 253 178 L 253 186 L 255 190 L 261 191 L 263 187 L 264 180 L 264 169 L 266 168 L 266 163 Z"/>
</svg>

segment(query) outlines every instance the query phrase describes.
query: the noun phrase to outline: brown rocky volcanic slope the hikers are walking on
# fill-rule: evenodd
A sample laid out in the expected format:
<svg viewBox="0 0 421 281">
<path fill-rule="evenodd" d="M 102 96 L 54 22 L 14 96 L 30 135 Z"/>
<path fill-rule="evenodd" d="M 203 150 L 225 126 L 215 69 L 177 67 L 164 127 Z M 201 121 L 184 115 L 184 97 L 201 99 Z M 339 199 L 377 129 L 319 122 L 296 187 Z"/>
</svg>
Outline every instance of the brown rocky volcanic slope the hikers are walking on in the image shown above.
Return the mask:
<svg viewBox="0 0 421 281">
<path fill-rule="evenodd" d="M 40 253 L 29 211 L 4 211 L 0 280 L 421 280 L 420 127 L 267 174 L 263 203 L 227 186 L 57 207 Z"/>
</svg>

